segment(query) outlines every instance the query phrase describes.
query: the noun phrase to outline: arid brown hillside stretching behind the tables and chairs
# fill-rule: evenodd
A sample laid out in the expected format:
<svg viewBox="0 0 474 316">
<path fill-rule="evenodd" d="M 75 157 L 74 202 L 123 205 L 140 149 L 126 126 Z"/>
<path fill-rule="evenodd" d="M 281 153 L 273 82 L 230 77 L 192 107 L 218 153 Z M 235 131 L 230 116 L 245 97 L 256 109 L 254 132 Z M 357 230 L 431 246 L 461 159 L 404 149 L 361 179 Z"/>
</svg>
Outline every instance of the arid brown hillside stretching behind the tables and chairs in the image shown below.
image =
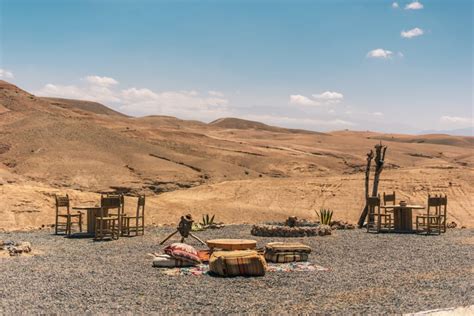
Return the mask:
<svg viewBox="0 0 474 316">
<path fill-rule="evenodd" d="M 426 203 L 446 193 L 449 220 L 474 226 L 474 138 L 317 133 L 236 118 L 209 124 L 168 116 L 128 117 L 102 104 L 41 98 L 0 81 L 0 229 L 54 222 L 54 193 L 73 204 L 98 193 L 148 196 L 149 224 L 183 213 L 227 223 L 319 207 L 356 221 L 364 204 L 365 154 L 388 146 L 381 191 Z"/>
</svg>

